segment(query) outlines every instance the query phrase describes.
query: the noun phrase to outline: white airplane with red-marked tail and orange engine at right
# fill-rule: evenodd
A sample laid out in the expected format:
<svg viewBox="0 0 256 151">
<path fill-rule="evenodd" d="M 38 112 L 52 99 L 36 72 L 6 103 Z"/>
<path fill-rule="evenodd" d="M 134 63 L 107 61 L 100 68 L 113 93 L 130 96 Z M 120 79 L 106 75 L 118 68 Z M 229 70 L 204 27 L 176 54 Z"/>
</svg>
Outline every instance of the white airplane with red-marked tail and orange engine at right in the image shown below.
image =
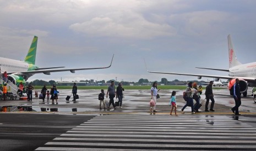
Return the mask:
<svg viewBox="0 0 256 151">
<path fill-rule="evenodd" d="M 200 69 L 211 69 L 215 71 L 225 71 L 228 72 L 228 76 L 222 75 L 205 75 L 205 74 L 187 74 L 187 73 L 171 73 L 171 72 L 151 72 L 150 73 L 161 73 L 161 74 L 176 74 L 176 75 L 188 75 L 188 76 L 197 76 L 198 79 L 201 77 L 215 78 L 219 79 L 228 79 L 228 90 L 231 90 L 231 87 L 236 83 L 236 78 L 239 79 L 240 92 L 244 97 L 247 96 L 248 86 L 256 86 L 256 62 L 242 64 L 237 60 L 235 50 L 231 41 L 230 34 L 227 36 L 228 39 L 228 59 L 229 59 L 229 69 L 217 69 L 217 68 L 203 68 L 197 67 Z M 231 95 L 231 94 L 230 94 Z"/>
</svg>

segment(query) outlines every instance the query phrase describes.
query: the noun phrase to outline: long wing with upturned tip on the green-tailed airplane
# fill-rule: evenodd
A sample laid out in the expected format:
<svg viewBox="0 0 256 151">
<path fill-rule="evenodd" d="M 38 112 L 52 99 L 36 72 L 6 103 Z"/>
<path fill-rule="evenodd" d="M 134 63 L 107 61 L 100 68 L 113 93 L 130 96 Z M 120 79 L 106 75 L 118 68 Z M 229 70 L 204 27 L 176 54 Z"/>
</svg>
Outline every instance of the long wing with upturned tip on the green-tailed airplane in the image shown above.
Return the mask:
<svg viewBox="0 0 256 151">
<path fill-rule="evenodd" d="M 110 63 L 110 66 L 107 67 L 96 67 L 96 68 L 70 68 L 70 69 L 39 69 L 39 70 L 32 70 L 32 71 L 20 71 L 20 72 L 8 72 L 8 74 L 35 74 L 35 73 L 43 73 L 50 75 L 51 72 L 63 72 L 63 71 L 70 71 L 71 73 L 75 73 L 75 71 L 79 70 L 88 70 L 88 69 L 104 69 L 104 68 L 109 68 L 112 65 L 114 55 L 112 56 L 112 60 Z"/>
</svg>

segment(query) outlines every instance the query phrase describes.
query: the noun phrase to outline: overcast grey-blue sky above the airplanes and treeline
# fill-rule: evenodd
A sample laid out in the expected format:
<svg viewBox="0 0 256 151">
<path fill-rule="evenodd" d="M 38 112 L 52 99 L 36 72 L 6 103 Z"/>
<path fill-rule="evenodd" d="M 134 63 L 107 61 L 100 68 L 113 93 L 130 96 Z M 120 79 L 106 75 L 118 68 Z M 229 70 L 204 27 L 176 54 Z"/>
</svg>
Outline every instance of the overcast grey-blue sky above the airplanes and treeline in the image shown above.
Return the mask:
<svg viewBox="0 0 256 151">
<path fill-rule="evenodd" d="M 36 65 L 108 69 L 35 74 L 34 79 L 138 82 L 197 77 L 150 71 L 227 75 L 227 35 L 237 59 L 255 61 L 256 1 L 0 0 L 0 53 L 24 60 L 38 36 Z M 203 78 L 207 80 L 206 78 Z"/>
</svg>

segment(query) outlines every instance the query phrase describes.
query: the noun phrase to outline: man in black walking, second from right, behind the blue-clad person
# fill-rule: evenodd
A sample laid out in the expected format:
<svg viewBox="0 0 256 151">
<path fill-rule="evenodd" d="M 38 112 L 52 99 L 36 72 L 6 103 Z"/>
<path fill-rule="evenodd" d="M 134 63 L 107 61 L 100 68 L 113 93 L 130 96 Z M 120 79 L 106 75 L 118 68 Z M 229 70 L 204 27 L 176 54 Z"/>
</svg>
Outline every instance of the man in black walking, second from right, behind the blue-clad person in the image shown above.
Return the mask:
<svg viewBox="0 0 256 151">
<path fill-rule="evenodd" d="M 213 81 L 210 81 L 210 83 L 205 88 L 205 97 L 206 97 L 206 103 L 205 103 L 205 112 L 209 112 L 208 110 L 208 104 L 211 100 L 211 107 L 210 111 L 214 112 L 214 95 L 213 95 Z"/>
</svg>

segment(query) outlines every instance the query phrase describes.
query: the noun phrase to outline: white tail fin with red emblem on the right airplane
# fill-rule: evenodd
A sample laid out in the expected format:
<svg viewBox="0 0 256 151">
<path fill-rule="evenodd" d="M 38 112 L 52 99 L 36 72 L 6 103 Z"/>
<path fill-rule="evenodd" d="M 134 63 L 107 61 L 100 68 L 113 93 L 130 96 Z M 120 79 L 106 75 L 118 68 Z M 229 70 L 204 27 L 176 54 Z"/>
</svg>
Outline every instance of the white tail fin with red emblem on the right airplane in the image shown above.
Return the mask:
<svg viewBox="0 0 256 151">
<path fill-rule="evenodd" d="M 227 36 L 227 42 L 228 42 L 228 57 L 229 57 L 230 68 L 241 65 L 242 63 L 240 63 L 236 59 L 236 53 L 233 48 L 230 34 L 228 34 Z"/>
</svg>

